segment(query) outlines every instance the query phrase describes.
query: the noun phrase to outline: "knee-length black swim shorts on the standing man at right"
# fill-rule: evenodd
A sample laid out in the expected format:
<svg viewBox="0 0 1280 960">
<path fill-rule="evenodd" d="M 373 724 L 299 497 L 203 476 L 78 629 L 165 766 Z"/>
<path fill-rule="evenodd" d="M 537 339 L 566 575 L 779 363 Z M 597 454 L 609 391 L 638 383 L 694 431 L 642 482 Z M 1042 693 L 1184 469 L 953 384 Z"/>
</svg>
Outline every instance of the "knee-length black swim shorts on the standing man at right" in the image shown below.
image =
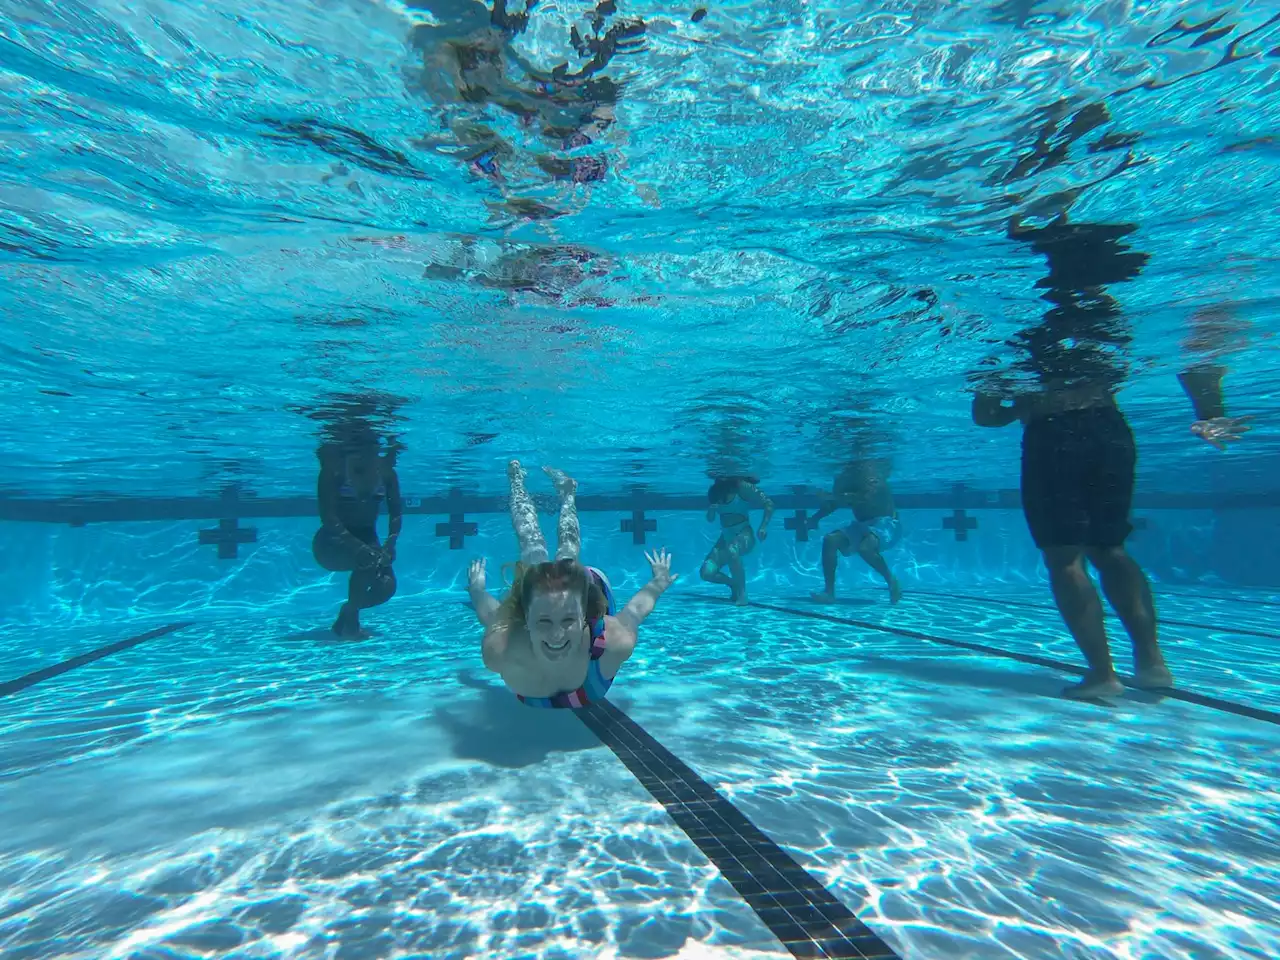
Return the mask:
<svg viewBox="0 0 1280 960">
<path fill-rule="evenodd" d="M 1116 407 L 1039 417 L 1023 431 L 1023 513 L 1047 547 L 1119 547 L 1133 531 L 1129 508 L 1137 451 Z"/>
</svg>

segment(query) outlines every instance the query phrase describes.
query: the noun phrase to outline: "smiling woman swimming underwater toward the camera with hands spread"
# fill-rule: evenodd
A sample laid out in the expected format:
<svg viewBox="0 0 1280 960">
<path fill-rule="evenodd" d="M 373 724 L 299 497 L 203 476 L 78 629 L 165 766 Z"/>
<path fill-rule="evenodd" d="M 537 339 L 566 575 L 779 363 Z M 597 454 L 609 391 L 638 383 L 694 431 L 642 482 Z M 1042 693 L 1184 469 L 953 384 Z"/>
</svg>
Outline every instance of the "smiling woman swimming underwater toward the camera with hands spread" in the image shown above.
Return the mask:
<svg viewBox="0 0 1280 960">
<path fill-rule="evenodd" d="M 511 524 L 520 562 L 511 590 L 498 602 L 485 589 L 485 561 L 471 563 L 468 591 L 484 626 L 484 664 L 529 707 L 577 708 L 600 700 L 631 657 L 636 634 L 676 577 L 666 550 L 645 554 L 652 579 L 621 611 L 603 571 L 579 559 L 577 483 L 544 467 L 559 494 L 559 544 L 548 559 L 538 508 L 518 461 L 507 466 Z"/>
</svg>

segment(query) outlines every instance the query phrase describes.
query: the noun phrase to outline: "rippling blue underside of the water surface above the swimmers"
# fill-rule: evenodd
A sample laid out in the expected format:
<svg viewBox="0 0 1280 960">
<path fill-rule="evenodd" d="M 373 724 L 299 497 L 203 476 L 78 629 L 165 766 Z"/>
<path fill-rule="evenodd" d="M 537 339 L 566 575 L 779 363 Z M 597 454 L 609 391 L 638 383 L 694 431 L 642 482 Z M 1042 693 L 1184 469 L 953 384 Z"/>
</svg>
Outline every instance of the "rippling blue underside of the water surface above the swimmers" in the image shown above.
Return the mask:
<svg viewBox="0 0 1280 960">
<path fill-rule="evenodd" d="M 442 99 L 424 64 L 474 3 L 6 3 L 0 483 L 305 490 L 307 415 L 353 394 L 431 485 L 531 452 L 800 483 L 855 440 L 902 484 L 992 479 L 965 376 L 1044 310 L 1010 216 L 1065 206 L 1149 256 L 1112 291 L 1144 475 L 1210 483 L 1171 375 L 1197 310 L 1230 311 L 1236 406 L 1274 408 L 1270 4 L 707 9 L 600 20 L 646 29 L 599 74 L 616 123 L 566 151 L 549 109 Z M 538 4 L 507 82 L 580 72 L 590 10 Z M 468 123 L 512 151 L 503 183 L 458 159 Z M 608 177 L 535 161 L 584 152 Z"/>
</svg>

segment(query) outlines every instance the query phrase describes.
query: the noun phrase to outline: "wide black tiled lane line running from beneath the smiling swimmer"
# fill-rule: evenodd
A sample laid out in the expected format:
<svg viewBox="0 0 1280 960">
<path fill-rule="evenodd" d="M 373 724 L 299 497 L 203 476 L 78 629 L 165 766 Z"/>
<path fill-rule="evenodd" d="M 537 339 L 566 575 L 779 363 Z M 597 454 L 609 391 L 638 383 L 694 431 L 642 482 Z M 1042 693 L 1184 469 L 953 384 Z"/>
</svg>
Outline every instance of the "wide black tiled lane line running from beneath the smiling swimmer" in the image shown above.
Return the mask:
<svg viewBox="0 0 1280 960">
<path fill-rule="evenodd" d="M 900 960 L 820 881 L 627 714 L 608 700 L 575 713 L 666 808 L 792 956 Z"/>
</svg>

